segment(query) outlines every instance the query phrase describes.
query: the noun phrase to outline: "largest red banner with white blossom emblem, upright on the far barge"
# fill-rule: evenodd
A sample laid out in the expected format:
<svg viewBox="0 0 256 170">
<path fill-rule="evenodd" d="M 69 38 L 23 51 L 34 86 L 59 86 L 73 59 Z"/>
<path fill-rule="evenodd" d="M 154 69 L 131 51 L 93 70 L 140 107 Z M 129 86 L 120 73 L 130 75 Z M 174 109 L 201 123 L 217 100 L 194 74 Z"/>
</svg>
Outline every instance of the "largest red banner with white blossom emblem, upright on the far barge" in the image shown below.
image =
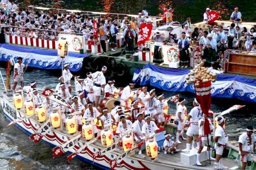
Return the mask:
<svg viewBox="0 0 256 170">
<path fill-rule="evenodd" d="M 141 27 L 139 27 L 138 45 L 144 44 L 150 38 L 152 27 L 152 24 L 141 24 Z"/>
</svg>

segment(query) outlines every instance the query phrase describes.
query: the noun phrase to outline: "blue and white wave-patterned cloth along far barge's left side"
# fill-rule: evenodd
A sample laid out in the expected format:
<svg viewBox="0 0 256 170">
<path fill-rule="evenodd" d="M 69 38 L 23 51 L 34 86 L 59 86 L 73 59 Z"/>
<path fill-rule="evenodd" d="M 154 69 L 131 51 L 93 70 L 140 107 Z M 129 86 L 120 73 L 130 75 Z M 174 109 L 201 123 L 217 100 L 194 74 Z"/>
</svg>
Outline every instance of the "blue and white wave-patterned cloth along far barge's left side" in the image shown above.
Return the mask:
<svg viewBox="0 0 256 170">
<path fill-rule="evenodd" d="M 82 61 L 88 54 L 68 53 L 64 63 L 69 64 L 69 70 L 79 71 L 82 68 Z M 29 62 L 30 67 L 39 69 L 61 69 L 61 59 L 57 57 L 57 50 L 43 50 L 25 48 L 16 45 L 0 45 L 0 61 L 12 59 L 16 62 L 17 57 L 22 57 L 24 63 Z"/>
</svg>

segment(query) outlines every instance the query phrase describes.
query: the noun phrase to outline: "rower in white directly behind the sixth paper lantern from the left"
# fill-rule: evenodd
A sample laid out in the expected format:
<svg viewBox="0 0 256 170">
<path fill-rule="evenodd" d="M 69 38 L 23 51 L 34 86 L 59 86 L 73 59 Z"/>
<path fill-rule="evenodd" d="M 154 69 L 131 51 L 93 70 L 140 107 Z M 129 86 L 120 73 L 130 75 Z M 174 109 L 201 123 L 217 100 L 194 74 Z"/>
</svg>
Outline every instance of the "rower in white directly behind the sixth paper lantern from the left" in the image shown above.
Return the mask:
<svg viewBox="0 0 256 170">
<path fill-rule="evenodd" d="M 100 119 L 100 113 L 98 113 L 98 109 L 96 107 L 93 107 L 92 102 L 88 102 L 87 103 L 88 108 L 85 110 L 84 112 L 84 116 L 82 116 L 82 118 L 89 119 L 89 118 L 93 118 L 93 120 L 95 120 L 97 118 L 97 120 Z M 98 134 L 98 130 L 96 125 L 93 123 L 93 133 L 94 133 L 94 137 L 97 137 Z"/>
</svg>

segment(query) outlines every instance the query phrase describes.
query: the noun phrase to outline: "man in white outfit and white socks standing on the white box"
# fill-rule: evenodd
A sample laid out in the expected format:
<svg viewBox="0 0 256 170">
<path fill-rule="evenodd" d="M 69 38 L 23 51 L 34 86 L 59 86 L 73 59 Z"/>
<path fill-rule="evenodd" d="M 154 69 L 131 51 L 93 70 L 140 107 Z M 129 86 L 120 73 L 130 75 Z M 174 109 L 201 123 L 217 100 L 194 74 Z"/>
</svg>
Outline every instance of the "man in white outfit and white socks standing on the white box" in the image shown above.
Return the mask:
<svg viewBox="0 0 256 170">
<path fill-rule="evenodd" d="M 199 126 L 198 126 L 198 121 L 203 117 L 203 112 L 201 111 L 200 104 L 196 100 L 196 98 L 193 101 L 193 108 L 191 109 L 190 113 L 187 116 L 187 120 L 185 121 L 185 127 L 188 127 L 187 130 L 187 147 L 182 150 L 184 152 L 189 152 L 191 148 L 191 141 L 193 135 L 195 135 L 196 138 L 196 144 L 197 148 L 199 148 L 200 143 L 199 143 Z M 194 141 L 192 143 L 192 148 L 194 147 Z"/>
</svg>

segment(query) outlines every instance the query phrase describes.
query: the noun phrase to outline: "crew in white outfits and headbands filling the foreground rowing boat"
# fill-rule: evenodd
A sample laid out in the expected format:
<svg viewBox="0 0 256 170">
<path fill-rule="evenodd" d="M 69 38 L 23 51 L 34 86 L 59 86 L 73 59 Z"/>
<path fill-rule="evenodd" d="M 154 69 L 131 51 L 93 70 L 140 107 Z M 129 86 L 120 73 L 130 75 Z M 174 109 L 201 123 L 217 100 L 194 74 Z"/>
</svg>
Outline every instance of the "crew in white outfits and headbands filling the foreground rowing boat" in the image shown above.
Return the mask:
<svg viewBox="0 0 256 170">
<path fill-rule="evenodd" d="M 18 63 L 14 66 L 13 90 L 15 90 L 18 82 L 23 86 L 23 70 L 26 66 L 24 66 L 22 61 L 22 58 L 19 57 Z M 107 67 L 103 66 L 101 71 L 87 73 L 85 79 L 77 76 L 75 92 L 72 92 L 71 78 L 73 78 L 73 75 L 69 71 L 69 64 L 66 63 L 64 65 L 63 76 L 59 78 L 55 92 L 64 99 L 66 103 L 71 105 L 71 108 L 53 102 L 49 100 L 48 97 L 43 101 L 42 97 L 38 94 L 36 82 L 31 82 L 30 87 L 23 89 L 23 91 L 26 92 L 26 96 L 32 97 L 35 107 L 39 107 L 42 103 L 46 104 L 48 114 L 51 113 L 54 108 L 60 107 L 61 121 L 63 123 L 66 120 L 66 116 L 76 112 L 77 130 L 79 131 L 82 130 L 82 119 L 88 120 L 90 118 L 100 121 L 101 129 L 104 129 L 104 127 L 109 124 L 117 126 L 114 133 L 120 138 L 126 135 L 127 131 L 132 130 L 134 133 L 134 141 L 137 143 L 152 137 L 152 135 L 158 133 L 159 129 L 164 130 L 164 123 L 166 122 L 164 116 L 164 94 L 156 95 L 155 89 L 148 91 L 147 87 L 144 86 L 137 100 L 134 100 L 132 92 L 135 86 L 134 82 L 129 83 L 123 88 L 120 99 L 114 101 L 114 107 L 111 111 L 108 108 L 100 109 L 99 101 L 101 96 L 104 96 L 105 99 L 109 99 L 113 98 L 118 93 L 114 90 L 115 81 L 111 78 L 106 81 L 104 76 L 106 71 Z M 175 102 L 176 116 L 174 124 L 177 126 L 176 137 L 172 134 L 165 134 L 165 141 L 163 143 L 164 154 L 175 154 L 175 152 L 179 151 L 190 152 L 191 149 L 196 148 L 198 151 L 195 164 L 201 166 L 201 151 L 204 146 L 209 148 L 212 146 L 211 141 L 214 136 L 213 141 L 215 142 L 216 158 L 210 156 L 208 159 L 215 160 L 214 169 L 226 168 L 222 163 L 222 154 L 228 144 L 228 134 L 224 128 L 224 117 L 217 117 L 216 121 L 218 125 L 213 134 L 213 120 L 208 117 L 208 114 L 203 114 L 200 103 L 196 99 L 193 100 L 193 108 L 188 113 L 186 113 L 187 108 L 185 107 L 186 101 L 184 98 L 179 97 Z M 96 125 L 97 124 L 93 124 L 95 137 L 98 136 L 98 128 Z M 209 126 L 210 133 L 206 132 L 205 126 Z M 186 133 L 187 145 L 184 150 L 180 150 L 180 139 L 186 140 L 183 137 L 185 128 L 188 128 Z M 255 152 L 255 142 L 256 137 L 253 134 L 253 126 L 247 126 L 246 132 L 240 135 L 238 141 L 242 169 L 245 169 L 246 165 L 250 169 L 252 160 L 251 153 Z M 141 147 L 139 147 L 138 154 L 142 154 Z"/>
</svg>

